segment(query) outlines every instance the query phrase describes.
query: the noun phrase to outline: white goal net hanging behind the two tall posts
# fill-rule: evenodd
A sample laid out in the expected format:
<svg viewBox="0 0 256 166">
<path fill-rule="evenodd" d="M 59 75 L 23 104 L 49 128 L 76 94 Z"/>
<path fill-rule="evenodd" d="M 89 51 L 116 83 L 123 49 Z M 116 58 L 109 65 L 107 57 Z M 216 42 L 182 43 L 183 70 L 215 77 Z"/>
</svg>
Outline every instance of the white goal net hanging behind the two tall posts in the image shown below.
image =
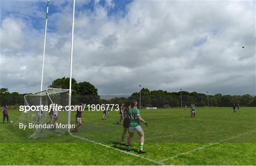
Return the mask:
<svg viewBox="0 0 256 166">
<path fill-rule="evenodd" d="M 48 88 L 46 91 L 27 94 L 24 96 L 25 106 L 47 106 L 49 110 L 39 108 L 39 111 L 23 111 L 16 125 L 20 123 L 27 126 L 33 125 L 34 133 L 30 136 L 31 138 L 62 135 L 68 131 L 68 128 L 57 125 L 70 124 L 69 111 L 64 110 L 68 106 L 68 99 L 69 90 L 67 89 Z M 56 106 L 62 106 L 63 109 L 58 111 L 55 109 Z M 45 126 L 42 127 L 43 125 Z"/>
</svg>

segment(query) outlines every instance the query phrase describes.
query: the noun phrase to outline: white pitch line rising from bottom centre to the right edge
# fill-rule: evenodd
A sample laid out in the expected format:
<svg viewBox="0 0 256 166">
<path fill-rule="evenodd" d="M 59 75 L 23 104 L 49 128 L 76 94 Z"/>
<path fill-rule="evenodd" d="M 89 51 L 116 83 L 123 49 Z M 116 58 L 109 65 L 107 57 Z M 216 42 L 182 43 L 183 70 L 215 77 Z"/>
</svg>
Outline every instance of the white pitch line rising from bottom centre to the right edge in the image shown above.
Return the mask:
<svg viewBox="0 0 256 166">
<path fill-rule="evenodd" d="M 175 156 L 173 156 L 173 157 L 171 157 L 171 158 L 165 158 L 165 159 L 163 159 L 163 160 L 161 160 L 161 161 L 164 162 L 164 161 L 167 161 L 167 160 L 169 160 L 169 159 L 177 158 L 177 157 L 179 157 L 179 156 L 186 155 L 186 154 L 188 154 L 188 153 L 191 153 L 191 152 L 194 152 L 194 151 L 197 151 L 197 150 L 201 150 L 201 149 L 207 148 L 207 147 L 209 147 L 209 146 L 212 146 L 212 145 L 215 145 L 215 144 L 219 144 L 219 143 L 224 142 L 224 141 L 229 141 L 229 140 L 232 140 L 232 139 L 234 139 L 234 138 L 238 138 L 238 137 L 240 137 L 240 136 L 243 136 L 243 135 L 246 135 L 246 134 L 252 133 L 252 132 L 256 132 L 256 130 L 251 130 L 251 131 L 249 131 L 249 132 L 242 133 L 242 134 L 240 134 L 240 135 L 236 135 L 236 136 L 233 136 L 233 137 L 228 138 L 228 139 L 225 139 L 225 140 L 220 140 L 219 142 L 210 143 L 209 145 L 204 145 L 204 146 L 201 146 L 201 147 L 199 147 L 199 148 L 196 148 L 196 149 L 193 149 L 193 150 L 184 152 L 184 153 L 177 154 L 177 155 L 175 155 Z"/>
</svg>

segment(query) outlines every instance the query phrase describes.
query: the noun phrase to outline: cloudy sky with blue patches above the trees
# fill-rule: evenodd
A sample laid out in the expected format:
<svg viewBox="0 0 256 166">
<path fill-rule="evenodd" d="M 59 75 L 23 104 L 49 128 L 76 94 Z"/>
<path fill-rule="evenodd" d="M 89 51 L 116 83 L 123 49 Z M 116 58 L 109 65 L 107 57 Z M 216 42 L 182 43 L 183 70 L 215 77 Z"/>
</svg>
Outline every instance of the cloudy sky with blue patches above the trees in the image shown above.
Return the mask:
<svg viewBox="0 0 256 166">
<path fill-rule="evenodd" d="M 46 2 L 0 1 L 1 88 L 40 91 Z M 73 0 L 50 0 L 44 89 L 69 76 L 72 10 Z M 101 95 L 139 84 L 255 95 L 255 1 L 77 0 L 73 77 Z"/>
</svg>

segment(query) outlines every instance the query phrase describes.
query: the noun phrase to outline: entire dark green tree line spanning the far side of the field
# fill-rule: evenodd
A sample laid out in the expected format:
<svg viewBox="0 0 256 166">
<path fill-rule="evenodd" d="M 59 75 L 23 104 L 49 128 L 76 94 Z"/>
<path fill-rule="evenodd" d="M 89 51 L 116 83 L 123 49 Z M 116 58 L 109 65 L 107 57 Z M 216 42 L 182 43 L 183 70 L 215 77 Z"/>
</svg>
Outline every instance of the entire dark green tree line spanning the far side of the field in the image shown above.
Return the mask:
<svg viewBox="0 0 256 166">
<path fill-rule="evenodd" d="M 52 82 L 50 88 L 62 88 L 69 89 L 69 78 L 58 78 Z M 182 94 L 182 95 L 181 95 Z M 0 89 L 0 105 L 23 105 L 24 95 L 18 92 L 9 92 L 7 88 Z M 115 97 L 109 100 L 101 99 L 98 95 L 98 89 L 95 88 L 89 82 L 80 82 L 72 78 L 72 104 L 80 102 L 86 104 L 122 104 L 127 100 L 137 100 L 139 102 L 139 96 L 141 98 L 141 107 L 163 107 L 169 105 L 170 107 L 180 107 L 181 100 L 183 107 L 185 105 L 190 106 L 192 103 L 196 106 L 209 106 L 211 107 L 231 107 L 233 103 L 240 106 L 256 106 L 256 96 L 249 94 L 245 95 L 222 95 L 220 93 L 215 95 L 206 95 L 197 92 L 178 91 L 167 92 L 163 90 L 150 91 L 147 88 L 143 88 L 139 92 L 132 93 L 128 98 Z"/>
</svg>

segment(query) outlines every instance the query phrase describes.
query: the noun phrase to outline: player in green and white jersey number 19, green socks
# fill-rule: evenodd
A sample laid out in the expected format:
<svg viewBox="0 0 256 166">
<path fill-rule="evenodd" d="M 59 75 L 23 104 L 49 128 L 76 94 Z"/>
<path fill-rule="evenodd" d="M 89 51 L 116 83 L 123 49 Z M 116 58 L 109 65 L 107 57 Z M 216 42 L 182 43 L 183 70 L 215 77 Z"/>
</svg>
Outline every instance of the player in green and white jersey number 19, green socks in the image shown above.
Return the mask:
<svg viewBox="0 0 256 166">
<path fill-rule="evenodd" d="M 129 125 L 129 136 L 128 136 L 127 151 L 131 150 L 132 137 L 133 137 L 134 132 L 136 131 L 140 136 L 139 153 L 146 153 L 146 151 L 143 150 L 144 132 L 143 132 L 143 129 L 141 128 L 139 122 L 144 123 L 146 126 L 147 126 L 147 123 L 140 116 L 139 110 L 137 110 L 137 101 L 132 101 L 131 102 L 131 108 L 128 111 L 128 116 L 130 118 L 130 125 Z"/>
</svg>

